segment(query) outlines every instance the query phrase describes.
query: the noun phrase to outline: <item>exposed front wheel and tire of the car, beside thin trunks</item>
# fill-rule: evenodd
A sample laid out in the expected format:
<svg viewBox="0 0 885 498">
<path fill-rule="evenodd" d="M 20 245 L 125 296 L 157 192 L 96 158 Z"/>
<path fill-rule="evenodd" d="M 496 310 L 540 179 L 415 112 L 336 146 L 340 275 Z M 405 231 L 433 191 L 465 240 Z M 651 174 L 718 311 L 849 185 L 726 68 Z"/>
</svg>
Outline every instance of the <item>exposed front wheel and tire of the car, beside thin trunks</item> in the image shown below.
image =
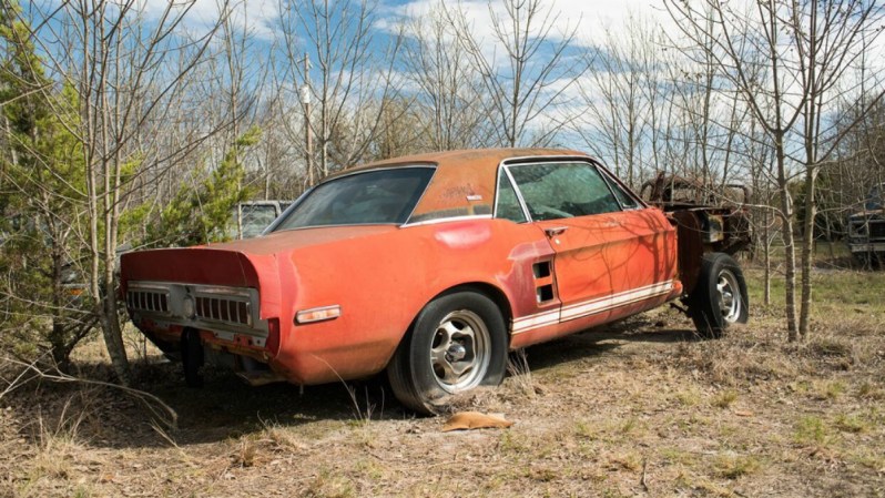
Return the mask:
<svg viewBox="0 0 885 498">
<path fill-rule="evenodd" d="M 732 324 L 745 324 L 750 301 L 738 262 L 725 253 L 705 254 L 688 305 L 689 316 L 701 337 L 718 338 Z"/>
</svg>

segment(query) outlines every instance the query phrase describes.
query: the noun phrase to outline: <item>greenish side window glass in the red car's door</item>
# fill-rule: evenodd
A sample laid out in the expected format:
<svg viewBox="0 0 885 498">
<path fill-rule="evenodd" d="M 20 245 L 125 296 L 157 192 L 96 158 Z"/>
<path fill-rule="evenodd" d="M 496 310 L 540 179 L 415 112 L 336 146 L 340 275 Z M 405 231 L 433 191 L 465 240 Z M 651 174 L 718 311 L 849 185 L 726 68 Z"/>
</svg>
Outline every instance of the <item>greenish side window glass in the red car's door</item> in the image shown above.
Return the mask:
<svg viewBox="0 0 885 498">
<path fill-rule="evenodd" d="M 621 211 L 621 204 L 592 164 L 546 163 L 509 167 L 535 221 Z"/>
</svg>

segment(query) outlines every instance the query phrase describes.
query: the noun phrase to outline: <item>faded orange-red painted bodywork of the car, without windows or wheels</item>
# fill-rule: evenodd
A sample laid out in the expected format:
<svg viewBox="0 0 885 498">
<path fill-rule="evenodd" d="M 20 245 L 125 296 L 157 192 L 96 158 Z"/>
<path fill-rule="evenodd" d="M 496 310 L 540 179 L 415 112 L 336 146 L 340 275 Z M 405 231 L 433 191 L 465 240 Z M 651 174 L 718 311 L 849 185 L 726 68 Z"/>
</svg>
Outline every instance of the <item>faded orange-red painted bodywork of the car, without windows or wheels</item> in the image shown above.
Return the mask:
<svg viewBox="0 0 885 498">
<path fill-rule="evenodd" d="M 560 150 L 456 151 L 348 170 L 339 175 L 434 164 L 437 171 L 413 221 L 489 216 L 403 226 L 301 228 L 202 247 L 130 253 L 122 257 L 124 292 L 130 282 L 257 289 L 261 319 L 279 323 L 275 347 L 256 347 L 245 336 L 227 341 L 211 329 L 202 331 L 201 337 L 208 347 L 266 362 L 297 384 L 350 379 L 384 369 L 421 308 L 457 286 L 482 286 L 497 293 L 510 324 L 556 314 L 570 305 L 580 308 L 583 302 L 592 308 L 593 299 L 628 293 L 613 308 L 515 332 L 510 339 L 513 348 L 680 296 L 675 232 L 658 209 L 523 224 L 492 220 L 499 164 L 527 156 L 589 160 L 580 152 Z M 542 230 L 553 225 L 569 226 L 558 241 Z M 532 265 L 539 262 L 551 262 L 553 274 L 536 277 Z M 662 283 L 672 283 L 672 287 L 664 288 Z M 553 286 L 551 299 L 539 303 L 540 285 Z M 654 287 L 657 294 L 630 301 L 630 289 L 654 285 L 663 291 Z M 295 323 L 298 311 L 330 305 L 340 306 L 340 317 Z M 149 337 L 169 342 L 174 342 L 184 326 L 153 318 L 140 318 L 135 325 Z"/>
</svg>

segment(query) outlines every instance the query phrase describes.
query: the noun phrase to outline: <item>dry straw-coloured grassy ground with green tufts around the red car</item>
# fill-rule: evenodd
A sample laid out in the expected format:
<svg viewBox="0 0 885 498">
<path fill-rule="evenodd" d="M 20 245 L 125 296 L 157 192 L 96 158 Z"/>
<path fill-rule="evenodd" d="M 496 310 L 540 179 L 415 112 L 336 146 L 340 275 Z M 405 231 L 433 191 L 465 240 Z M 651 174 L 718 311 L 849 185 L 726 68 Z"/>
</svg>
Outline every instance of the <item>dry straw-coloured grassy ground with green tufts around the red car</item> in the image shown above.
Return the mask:
<svg viewBox="0 0 885 498">
<path fill-rule="evenodd" d="M 721 341 L 662 308 L 530 348 L 501 387 L 456 402 L 509 429 L 441 433 L 383 379 L 301 393 L 213 373 L 185 389 L 153 355 L 140 386 L 176 428 L 118 390 L 32 383 L 0 399 L 0 495 L 885 496 L 885 274 L 817 270 L 801 345 L 781 287 L 762 306 L 747 277 L 752 322 Z"/>
</svg>

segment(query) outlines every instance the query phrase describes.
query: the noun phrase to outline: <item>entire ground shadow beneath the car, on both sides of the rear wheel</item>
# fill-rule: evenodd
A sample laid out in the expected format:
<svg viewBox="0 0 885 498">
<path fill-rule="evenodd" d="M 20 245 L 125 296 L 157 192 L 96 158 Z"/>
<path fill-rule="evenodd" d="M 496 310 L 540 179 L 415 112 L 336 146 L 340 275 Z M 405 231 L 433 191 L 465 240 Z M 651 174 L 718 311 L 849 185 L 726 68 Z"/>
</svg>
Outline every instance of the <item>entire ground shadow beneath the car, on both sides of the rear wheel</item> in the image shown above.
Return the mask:
<svg viewBox="0 0 885 498">
<path fill-rule="evenodd" d="M 655 327 L 648 321 L 631 318 L 528 349 L 532 372 L 563 366 L 573 362 L 603 357 L 625 342 L 677 343 L 692 341 L 689 329 Z M 152 358 L 154 360 L 159 358 Z M 372 420 L 411 419 L 394 397 L 384 373 L 356 382 L 322 386 L 269 384 L 252 387 L 228 370 L 208 369 L 204 386 L 184 385 L 181 364 L 140 363 L 133 365 L 138 389 L 160 398 L 177 416 L 177 428 L 156 430 L 155 419 L 143 400 L 113 388 L 84 387 L 79 384 L 33 383 L 19 389 L 3 402 L 12 406 L 20 420 L 21 434 L 29 437 L 34 423 L 28 420 L 62 420 L 64 411 L 82 410 L 79 431 L 92 446 L 109 448 L 167 447 L 170 440 L 179 446 L 217 443 L 247 435 L 258 435 L 267 426 L 293 428 L 359 424 Z M 109 380 L 104 364 L 79 365 L 79 376 Z M 354 404 L 352 392 L 358 407 Z M 67 406 L 67 404 L 71 404 Z M 34 436 L 39 437 L 39 436 Z M 169 437 L 169 439 L 167 439 Z"/>
</svg>

